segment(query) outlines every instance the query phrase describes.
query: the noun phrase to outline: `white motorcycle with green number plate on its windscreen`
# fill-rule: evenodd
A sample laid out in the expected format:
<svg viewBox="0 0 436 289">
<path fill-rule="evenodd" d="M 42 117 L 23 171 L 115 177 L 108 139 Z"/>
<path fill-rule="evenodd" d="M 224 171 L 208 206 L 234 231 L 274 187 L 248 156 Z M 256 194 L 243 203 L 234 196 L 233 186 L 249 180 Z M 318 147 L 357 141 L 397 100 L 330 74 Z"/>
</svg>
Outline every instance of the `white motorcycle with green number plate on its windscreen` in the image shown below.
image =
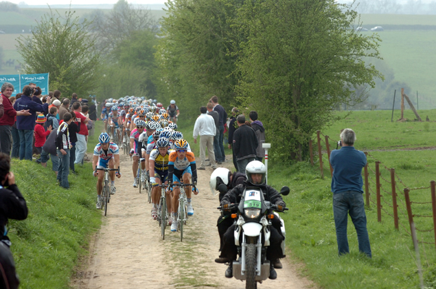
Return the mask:
<svg viewBox="0 0 436 289">
<path fill-rule="evenodd" d="M 282 187 L 280 194 L 288 195 L 289 187 Z M 222 207 L 218 209 L 225 210 Z M 245 280 L 246 289 L 255 289 L 257 282 L 262 283 L 268 279 L 270 274 L 270 262 L 266 259 L 266 248 L 270 245 L 271 219 L 279 218 L 282 222 L 282 235 L 286 235 L 284 221 L 278 213 L 273 213 L 273 211 L 284 212 L 288 208 L 279 210 L 277 205 L 265 200 L 260 187 L 246 187 L 240 203 L 231 204 L 226 210 L 232 209 L 237 211 L 231 214 L 231 218 L 236 219 L 234 236 L 239 256 L 236 261 L 233 261 L 233 277 Z M 264 240 L 263 244 L 262 240 Z M 285 255 L 284 240 L 281 248 Z"/>
</svg>

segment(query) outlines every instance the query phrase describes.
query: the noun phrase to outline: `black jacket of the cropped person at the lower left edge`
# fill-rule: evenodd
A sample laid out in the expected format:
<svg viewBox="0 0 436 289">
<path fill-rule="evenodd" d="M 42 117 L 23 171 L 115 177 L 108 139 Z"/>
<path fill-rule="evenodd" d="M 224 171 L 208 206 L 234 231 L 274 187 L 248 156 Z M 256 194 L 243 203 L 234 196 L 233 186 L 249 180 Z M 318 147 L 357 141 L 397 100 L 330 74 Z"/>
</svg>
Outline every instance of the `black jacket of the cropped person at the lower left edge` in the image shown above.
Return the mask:
<svg viewBox="0 0 436 289">
<path fill-rule="evenodd" d="M 2 239 L 7 238 L 5 235 L 5 225 L 8 219 L 24 220 L 27 218 L 27 205 L 25 199 L 18 187 L 10 185 L 8 189 L 0 189 L 0 236 Z"/>
</svg>

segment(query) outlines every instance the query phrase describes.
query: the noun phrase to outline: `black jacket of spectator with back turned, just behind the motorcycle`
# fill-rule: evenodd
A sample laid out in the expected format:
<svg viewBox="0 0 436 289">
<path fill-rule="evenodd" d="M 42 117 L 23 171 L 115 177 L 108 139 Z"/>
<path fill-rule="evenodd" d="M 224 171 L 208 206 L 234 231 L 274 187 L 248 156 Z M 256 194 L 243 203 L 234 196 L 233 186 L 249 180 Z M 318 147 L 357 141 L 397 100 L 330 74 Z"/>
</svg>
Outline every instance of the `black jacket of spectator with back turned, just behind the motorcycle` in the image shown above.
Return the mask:
<svg viewBox="0 0 436 289">
<path fill-rule="evenodd" d="M 233 152 L 238 161 L 249 157 L 255 158 L 257 146 L 259 142 L 253 128 L 244 124 L 233 133 Z"/>
</svg>

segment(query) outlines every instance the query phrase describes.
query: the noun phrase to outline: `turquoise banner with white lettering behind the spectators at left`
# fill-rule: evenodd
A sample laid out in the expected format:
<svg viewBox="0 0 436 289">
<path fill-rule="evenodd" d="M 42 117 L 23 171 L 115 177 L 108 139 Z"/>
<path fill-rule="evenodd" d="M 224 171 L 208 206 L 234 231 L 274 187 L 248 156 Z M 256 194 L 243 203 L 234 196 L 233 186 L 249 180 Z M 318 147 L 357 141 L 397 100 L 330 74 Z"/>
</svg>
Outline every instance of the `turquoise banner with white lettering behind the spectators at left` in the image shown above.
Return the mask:
<svg viewBox="0 0 436 289">
<path fill-rule="evenodd" d="M 23 87 L 30 83 L 34 83 L 36 86 L 41 87 L 41 95 L 49 94 L 49 73 L 8 74 L 0 76 L 0 84 L 3 84 L 4 82 L 10 82 L 14 86 L 12 96 L 15 96 L 16 93 L 21 93 Z"/>
</svg>

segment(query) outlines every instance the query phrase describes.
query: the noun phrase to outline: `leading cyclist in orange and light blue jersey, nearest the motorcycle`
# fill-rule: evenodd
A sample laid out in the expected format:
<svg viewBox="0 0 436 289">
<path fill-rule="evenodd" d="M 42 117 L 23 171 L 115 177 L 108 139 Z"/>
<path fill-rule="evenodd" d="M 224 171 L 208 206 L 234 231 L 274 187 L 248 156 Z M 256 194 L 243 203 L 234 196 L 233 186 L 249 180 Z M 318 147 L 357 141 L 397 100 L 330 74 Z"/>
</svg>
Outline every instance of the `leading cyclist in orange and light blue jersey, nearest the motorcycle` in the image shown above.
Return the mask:
<svg viewBox="0 0 436 289">
<path fill-rule="evenodd" d="M 174 183 L 174 197 L 172 198 L 172 218 L 174 220 L 177 219 L 177 211 L 179 210 L 179 194 L 180 188 L 176 187 L 177 184 L 181 183 L 181 181 L 185 184 L 189 184 L 192 182 L 196 184 L 197 182 L 197 170 L 194 152 L 188 152 L 187 146 L 188 143 L 185 139 L 179 139 L 174 143 L 176 148 L 175 152 L 170 153 L 170 157 L 168 159 L 168 179 Z M 186 187 L 185 193 L 187 198 L 187 216 L 194 215 L 194 209 L 192 209 L 191 203 L 191 192 L 192 187 Z M 198 194 L 198 191 L 195 191 L 194 194 Z M 173 222 L 171 225 L 171 231 L 177 231 L 177 222 Z"/>
</svg>

